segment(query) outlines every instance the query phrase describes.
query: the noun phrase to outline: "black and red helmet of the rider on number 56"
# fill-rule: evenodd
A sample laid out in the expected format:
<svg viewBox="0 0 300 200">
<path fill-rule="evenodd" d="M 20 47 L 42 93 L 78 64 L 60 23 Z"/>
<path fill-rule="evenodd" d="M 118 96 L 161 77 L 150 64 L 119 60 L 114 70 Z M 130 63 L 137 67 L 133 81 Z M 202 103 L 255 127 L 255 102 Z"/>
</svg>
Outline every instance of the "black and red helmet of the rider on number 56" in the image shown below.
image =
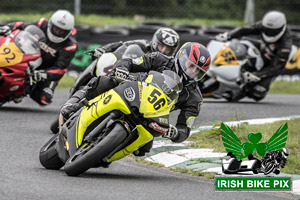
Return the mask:
<svg viewBox="0 0 300 200">
<path fill-rule="evenodd" d="M 197 42 L 187 42 L 178 50 L 175 63 L 178 73 L 183 72 L 185 80 L 199 81 L 210 66 L 210 54 L 206 47 Z"/>
</svg>

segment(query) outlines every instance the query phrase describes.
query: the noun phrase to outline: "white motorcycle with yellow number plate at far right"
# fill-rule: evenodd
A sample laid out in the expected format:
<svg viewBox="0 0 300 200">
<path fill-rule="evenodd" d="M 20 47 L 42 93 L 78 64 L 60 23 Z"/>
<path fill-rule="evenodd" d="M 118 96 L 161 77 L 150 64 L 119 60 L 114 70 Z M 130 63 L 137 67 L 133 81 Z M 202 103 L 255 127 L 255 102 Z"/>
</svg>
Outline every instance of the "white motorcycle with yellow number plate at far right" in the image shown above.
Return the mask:
<svg viewBox="0 0 300 200">
<path fill-rule="evenodd" d="M 245 86 L 240 69 L 249 60 L 257 71 L 264 66 L 260 54 L 261 42 L 253 38 L 245 37 L 242 40 L 233 39 L 228 42 L 211 40 L 207 48 L 211 54 L 212 63 L 206 76 L 199 81 L 203 97 L 216 99 L 224 98 L 228 101 L 237 96 Z M 296 46 L 292 46 L 289 60 L 297 52 Z M 238 101 L 239 99 L 235 99 Z"/>
</svg>

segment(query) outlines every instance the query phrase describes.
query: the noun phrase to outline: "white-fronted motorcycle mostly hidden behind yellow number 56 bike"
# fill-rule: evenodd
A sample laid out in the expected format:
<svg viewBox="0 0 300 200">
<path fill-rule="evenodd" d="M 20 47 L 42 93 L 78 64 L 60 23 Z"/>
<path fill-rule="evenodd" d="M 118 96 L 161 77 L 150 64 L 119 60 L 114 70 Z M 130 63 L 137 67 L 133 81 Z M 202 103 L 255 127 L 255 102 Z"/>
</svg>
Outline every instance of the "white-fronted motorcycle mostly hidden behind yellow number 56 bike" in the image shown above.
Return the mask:
<svg viewBox="0 0 300 200">
<path fill-rule="evenodd" d="M 113 69 L 113 65 L 121 58 L 137 58 L 144 55 L 143 50 L 136 44 L 129 46 L 122 45 L 114 52 L 104 53 L 98 59 L 95 59 L 75 81 L 69 92 L 69 98 L 81 87 L 88 84 L 93 77 L 107 76 Z M 57 133 L 58 118 L 50 125 L 50 130 Z"/>
</svg>

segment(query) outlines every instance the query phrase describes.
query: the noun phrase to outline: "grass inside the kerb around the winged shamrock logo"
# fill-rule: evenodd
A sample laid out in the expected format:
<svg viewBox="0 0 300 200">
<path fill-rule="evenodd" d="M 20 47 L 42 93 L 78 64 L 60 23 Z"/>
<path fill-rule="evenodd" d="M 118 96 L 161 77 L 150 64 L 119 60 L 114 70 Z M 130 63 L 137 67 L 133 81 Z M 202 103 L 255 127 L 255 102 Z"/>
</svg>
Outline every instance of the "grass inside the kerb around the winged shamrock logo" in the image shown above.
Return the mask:
<svg viewBox="0 0 300 200">
<path fill-rule="evenodd" d="M 267 142 L 271 136 L 284 125 L 286 121 L 278 121 L 271 124 L 264 125 L 244 125 L 240 127 L 232 127 L 233 132 L 238 136 L 242 143 L 248 141 L 249 133 L 260 132 L 263 138 L 260 142 Z M 300 175 L 300 119 L 288 121 L 288 140 L 286 147 L 291 151 L 286 167 L 281 171 L 290 174 Z M 189 141 L 193 141 L 192 146 L 195 148 L 212 148 L 216 152 L 226 152 L 222 143 L 220 131 L 201 131 L 189 137 Z"/>
</svg>

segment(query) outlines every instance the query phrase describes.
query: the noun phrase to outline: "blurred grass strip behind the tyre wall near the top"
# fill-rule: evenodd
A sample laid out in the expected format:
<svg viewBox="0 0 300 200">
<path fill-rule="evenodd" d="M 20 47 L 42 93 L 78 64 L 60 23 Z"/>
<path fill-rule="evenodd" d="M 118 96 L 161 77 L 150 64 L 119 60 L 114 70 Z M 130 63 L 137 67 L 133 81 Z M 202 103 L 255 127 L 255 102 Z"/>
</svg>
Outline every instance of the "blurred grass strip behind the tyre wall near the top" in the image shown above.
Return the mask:
<svg viewBox="0 0 300 200">
<path fill-rule="evenodd" d="M 36 21 L 42 17 L 50 18 L 52 12 L 44 14 L 0 14 L 0 21 Z M 145 21 L 155 21 L 155 22 L 165 22 L 170 24 L 194 24 L 194 25 L 205 25 L 209 26 L 212 24 L 222 24 L 222 25 L 243 25 L 241 21 L 231 21 L 231 20 L 207 20 L 207 19 L 158 19 L 158 18 L 143 18 L 143 17 L 110 17 L 103 15 L 80 15 L 75 16 L 76 24 L 93 25 L 93 26 L 105 26 L 113 24 L 129 24 L 135 25 L 140 22 Z"/>
</svg>

